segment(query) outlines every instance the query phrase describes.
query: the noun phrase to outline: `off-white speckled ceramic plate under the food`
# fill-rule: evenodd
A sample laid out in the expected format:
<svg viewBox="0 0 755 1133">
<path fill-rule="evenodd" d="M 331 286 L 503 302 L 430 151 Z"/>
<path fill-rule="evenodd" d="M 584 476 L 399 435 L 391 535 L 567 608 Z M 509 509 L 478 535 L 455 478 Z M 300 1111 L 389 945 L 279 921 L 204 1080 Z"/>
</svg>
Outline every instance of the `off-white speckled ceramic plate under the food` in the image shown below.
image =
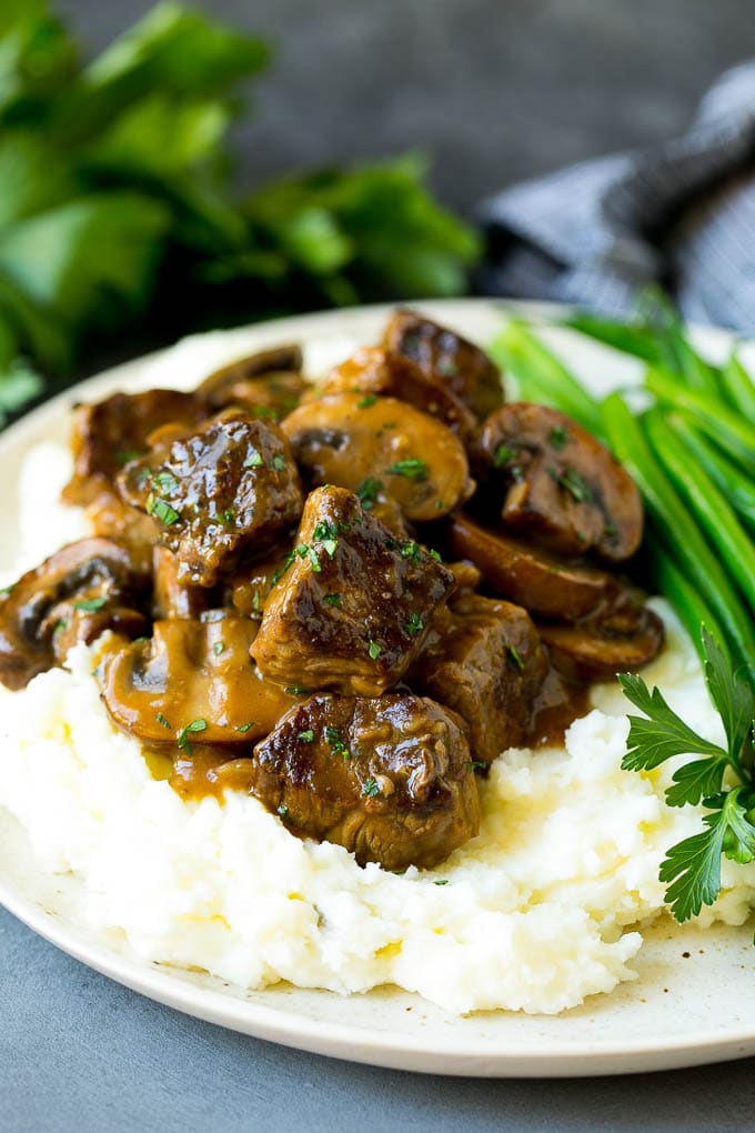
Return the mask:
<svg viewBox="0 0 755 1133">
<path fill-rule="evenodd" d="M 480 342 L 500 325 L 503 305 L 483 300 L 422 304 L 430 315 Z M 93 378 L 31 414 L 0 437 L 0 483 L 15 485 L 29 445 L 61 438 L 68 408 L 115 389 L 169 382 L 190 386 L 221 363 L 281 341 L 306 344 L 309 368 L 340 360 L 375 340 L 387 308 L 359 308 L 281 320 L 261 326 L 185 340 L 164 351 Z M 537 315 L 548 308 L 524 308 Z M 552 315 L 552 308 L 548 310 Z M 565 332 L 554 332 L 556 338 Z M 717 353 L 727 335 L 701 332 Z M 567 335 L 561 346 L 591 384 L 630 380 L 630 361 Z M 6 538 L 0 571 L 17 539 L 15 491 L 3 489 Z M 454 1019 L 417 996 L 383 989 L 341 997 L 280 986 L 244 991 L 209 976 L 148 963 L 115 932 L 85 927 L 76 877 L 40 870 L 24 830 L 0 810 L 0 901 L 37 932 L 112 979 L 234 1030 L 325 1055 L 402 1070 L 486 1076 L 616 1074 L 692 1066 L 755 1054 L 755 949 L 752 928 L 700 932 L 659 921 L 634 962 L 637 980 L 610 996 L 594 996 L 557 1017 L 484 1012 Z"/>
</svg>

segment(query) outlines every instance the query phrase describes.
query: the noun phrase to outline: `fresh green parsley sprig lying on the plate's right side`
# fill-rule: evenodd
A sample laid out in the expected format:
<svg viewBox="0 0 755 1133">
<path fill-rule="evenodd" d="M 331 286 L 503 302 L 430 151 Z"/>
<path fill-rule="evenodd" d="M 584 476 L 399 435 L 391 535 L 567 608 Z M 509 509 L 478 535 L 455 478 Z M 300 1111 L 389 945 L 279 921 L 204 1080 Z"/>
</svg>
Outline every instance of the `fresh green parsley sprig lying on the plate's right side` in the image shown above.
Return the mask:
<svg viewBox="0 0 755 1133">
<path fill-rule="evenodd" d="M 705 627 L 701 629 L 704 671 L 713 705 L 721 715 L 726 748 L 703 739 L 677 716 L 658 688 L 624 673 L 619 683 L 644 716 L 629 716 L 625 770 L 653 770 L 675 756 L 700 756 L 678 767 L 666 791 L 669 807 L 696 806 L 710 811 L 705 829 L 671 846 L 659 877 L 668 883 L 666 900 L 678 921 L 696 917 L 721 892 L 721 855 L 747 864 L 755 861 L 755 778 L 753 727 L 755 688 L 750 674 L 733 671 Z M 732 785 L 724 784 L 729 772 Z"/>
</svg>

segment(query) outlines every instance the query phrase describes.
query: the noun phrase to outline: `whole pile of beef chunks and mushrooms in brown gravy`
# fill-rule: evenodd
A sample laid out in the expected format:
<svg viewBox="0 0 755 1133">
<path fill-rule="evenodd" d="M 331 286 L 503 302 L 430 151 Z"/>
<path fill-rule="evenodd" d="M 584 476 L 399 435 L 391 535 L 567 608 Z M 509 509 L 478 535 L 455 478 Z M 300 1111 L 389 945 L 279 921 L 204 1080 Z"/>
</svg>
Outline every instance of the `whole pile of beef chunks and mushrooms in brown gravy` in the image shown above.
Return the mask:
<svg viewBox="0 0 755 1133">
<path fill-rule="evenodd" d="M 627 474 L 412 312 L 319 390 L 285 347 L 79 407 L 74 444 L 94 537 L 0 597 L 0 681 L 110 631 L 102 699 L 155 777 L 360 864 L 444 861 L 501 750 L 560 744 L 590 680 L 661 648 L 617 573 Z"/>
</svg>

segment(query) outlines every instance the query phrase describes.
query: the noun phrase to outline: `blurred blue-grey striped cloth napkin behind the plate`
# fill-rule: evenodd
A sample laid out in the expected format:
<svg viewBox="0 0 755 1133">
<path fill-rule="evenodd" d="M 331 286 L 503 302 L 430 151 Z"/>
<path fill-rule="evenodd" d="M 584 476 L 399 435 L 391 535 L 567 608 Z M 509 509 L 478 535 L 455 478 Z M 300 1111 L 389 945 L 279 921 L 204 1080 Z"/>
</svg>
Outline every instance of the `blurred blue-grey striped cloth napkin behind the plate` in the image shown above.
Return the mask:
<svg viewBox="0 0 755 1133">
<path fill-rule="evenodd" d="M 683 137 L 484 201 L 478 290 L 621 314 L 655 282 L 685 318 L 755 333 L 754 155 L 747 62 L 721 76 Z"/>
</svg>

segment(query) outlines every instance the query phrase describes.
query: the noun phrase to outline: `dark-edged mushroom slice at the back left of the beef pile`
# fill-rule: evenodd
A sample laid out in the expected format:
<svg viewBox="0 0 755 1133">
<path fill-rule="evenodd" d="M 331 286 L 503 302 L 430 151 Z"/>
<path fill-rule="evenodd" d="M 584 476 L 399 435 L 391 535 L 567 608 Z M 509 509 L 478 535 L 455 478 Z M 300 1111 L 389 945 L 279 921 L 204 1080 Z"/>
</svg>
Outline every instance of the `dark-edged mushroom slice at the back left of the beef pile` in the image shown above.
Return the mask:
<svg viewBox="0 0 755 1133">
<path fill-rule="evenodd" d="M 237 406 L 250 417 L 282 420 L 308 389 L 299 347 L 281 347 L 215 370 L 197 389 L 212 412 Z"/>
</svg>

